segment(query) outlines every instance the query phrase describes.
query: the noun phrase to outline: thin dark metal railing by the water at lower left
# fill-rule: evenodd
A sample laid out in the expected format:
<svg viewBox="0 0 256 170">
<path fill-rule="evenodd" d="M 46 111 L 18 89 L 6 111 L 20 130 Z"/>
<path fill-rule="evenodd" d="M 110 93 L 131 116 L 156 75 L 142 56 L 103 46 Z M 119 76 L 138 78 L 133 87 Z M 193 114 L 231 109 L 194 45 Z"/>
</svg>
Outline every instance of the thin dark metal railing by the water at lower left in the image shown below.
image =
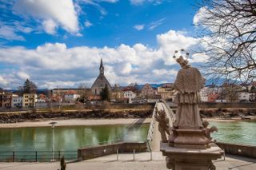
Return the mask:
<svg viewBox="0 0 256 170">
<path fill-rule="evenodd" d="M 75 151 L 1 151 L 0 162 L 50 162 L 59 161 L 64 156 L 65 160 L 77 160 L 78 152 Z"/>
</svg>

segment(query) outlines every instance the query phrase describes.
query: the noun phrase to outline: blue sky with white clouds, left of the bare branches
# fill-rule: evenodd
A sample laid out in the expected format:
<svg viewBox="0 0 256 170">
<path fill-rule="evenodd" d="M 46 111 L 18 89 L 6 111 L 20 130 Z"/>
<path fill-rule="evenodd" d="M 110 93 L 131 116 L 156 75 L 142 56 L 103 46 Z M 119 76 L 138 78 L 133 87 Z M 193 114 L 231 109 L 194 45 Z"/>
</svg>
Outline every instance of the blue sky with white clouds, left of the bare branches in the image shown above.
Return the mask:
<svg viewBox="0 0 256 170">
<path fill-rule="evenodd" d="M 173 82 L 174 51 L 199 44 L 195 1 L 0 0 L 0 87 L 90 87 L 102 58 L 111 85 Z M 190 53 L 192 65 L 206 60 Z"/>
</svg>

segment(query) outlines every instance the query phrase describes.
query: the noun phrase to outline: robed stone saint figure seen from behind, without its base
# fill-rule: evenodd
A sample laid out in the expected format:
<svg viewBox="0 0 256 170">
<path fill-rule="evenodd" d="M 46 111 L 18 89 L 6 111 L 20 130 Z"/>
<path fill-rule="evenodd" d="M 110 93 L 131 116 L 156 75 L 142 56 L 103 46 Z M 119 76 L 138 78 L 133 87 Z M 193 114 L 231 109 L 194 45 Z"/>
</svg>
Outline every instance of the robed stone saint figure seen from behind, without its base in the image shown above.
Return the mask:
<svg viewBox="0 0 256 170">
<path fill-rule="evenodd" d="M 175 101 L 178 104 L 174 128 L 199 129 L 202 128 L 202 120 L 199 114 L 199 92 L 204 87 L 205 79 L 197 68 L 191 67 L 182 56 L 176 59 L 182 69 L 174 82 L 174 88 L 178 91 Z"/>
</svg>

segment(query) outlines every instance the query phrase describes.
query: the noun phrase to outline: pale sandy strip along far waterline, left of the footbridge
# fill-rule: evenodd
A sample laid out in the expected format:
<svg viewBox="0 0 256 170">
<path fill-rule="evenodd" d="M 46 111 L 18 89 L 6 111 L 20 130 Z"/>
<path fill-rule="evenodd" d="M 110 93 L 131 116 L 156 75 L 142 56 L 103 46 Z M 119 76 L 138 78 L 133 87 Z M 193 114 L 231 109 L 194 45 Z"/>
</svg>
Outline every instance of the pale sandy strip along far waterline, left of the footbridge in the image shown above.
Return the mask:
<svg viewBox="0 0 256 170">
<path fill-rule="evenodd" d="M 37 122 L 19 122 L 12 124 L 0 124 L 0 128 L 27 128 L 27 127 L 50 127 L 50 122 L 57 122 L 56 126 L 91 126 L 91 125 L 130 125 L 130 124 L 149 124 L 150 118 L 127 118 L 127 119 L 70 119 L 70 120 L 48 120 Z"/>
</svg>

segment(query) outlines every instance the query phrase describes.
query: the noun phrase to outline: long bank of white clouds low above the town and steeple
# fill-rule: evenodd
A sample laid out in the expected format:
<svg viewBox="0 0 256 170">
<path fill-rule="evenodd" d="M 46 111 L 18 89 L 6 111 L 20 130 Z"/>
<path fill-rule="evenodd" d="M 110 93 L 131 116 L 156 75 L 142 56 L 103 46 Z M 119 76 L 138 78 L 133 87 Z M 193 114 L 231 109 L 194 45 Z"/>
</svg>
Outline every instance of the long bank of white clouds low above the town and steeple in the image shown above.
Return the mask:
<svg viewBox="0 0 256 170">
<path fill-rule="evenodd" d="M 172 57 L 174 50 L 191 49 L 198 43 L 198 39 L 188 37 L 184 32 L 170 30 L 158 34 L 157 42 L 158 47 L 155 49 L 139 43 L 133 46 L 121 44 L 115 48 L 68 48 L 63 43 L 46 43 L 35 49 L 2 47 L 0 62 L 22 70 L 6 70 L 6 74 L 10 74 L 8 80 L 12 82 L 9 85 L 14 88 L 22 85 L 26 77 L 37 82 L 39 88 L 72 87 L 85 82 L 91 85 L 98 76 L 101 58 L 106 77 L 112 85 L 174 81 L 179 68 Z M 200 62 L 203 58 L 203 55 L 193 55 L 190 61 Z"/>
</svg>

